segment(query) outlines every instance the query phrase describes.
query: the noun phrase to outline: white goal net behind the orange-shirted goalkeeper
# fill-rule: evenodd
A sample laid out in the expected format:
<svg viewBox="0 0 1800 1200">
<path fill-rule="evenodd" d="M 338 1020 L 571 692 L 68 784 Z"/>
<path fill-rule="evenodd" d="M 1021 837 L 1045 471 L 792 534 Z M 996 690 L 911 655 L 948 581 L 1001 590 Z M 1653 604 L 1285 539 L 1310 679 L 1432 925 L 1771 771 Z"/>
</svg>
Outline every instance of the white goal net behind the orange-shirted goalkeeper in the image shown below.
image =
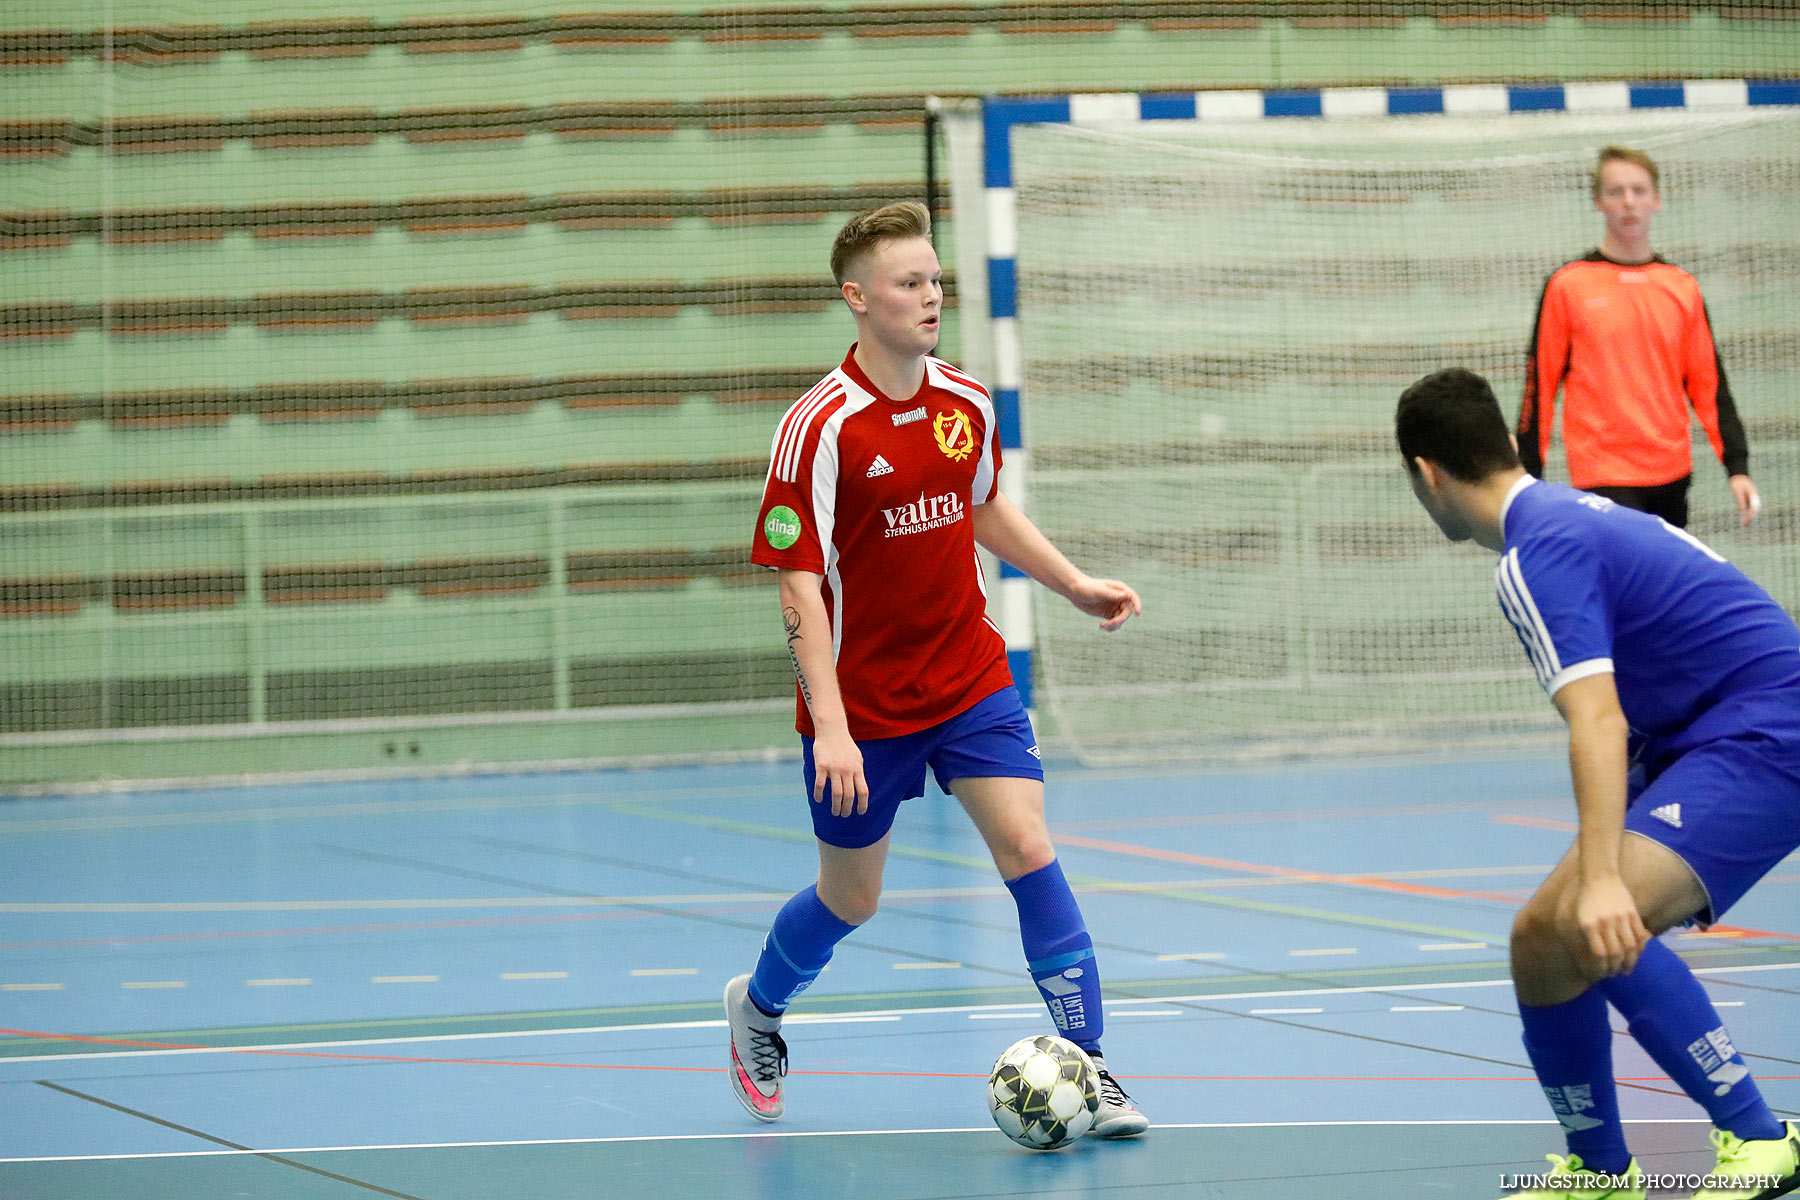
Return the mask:
<svg viewBox="0 0 1800 1200">
<path fill-rule="evenodd" d="M 1129 761 L 1557 727 L 1492 556 L 1417 509 L 1393 407 L 1467 365 L 1516 417 L 1543 281 L 1602 232 L 1611 142 L 1663 169 L 1654 243 L 1701 281 L 1766 493 L 1741 533 L 1697 441 L 1692 527 L 1800 604 L 1795 110 L 1019 126 L 1030 509 L 1147 604 L 1100 639 L 1040 592 L 1060 738 Z"/>
</svg>

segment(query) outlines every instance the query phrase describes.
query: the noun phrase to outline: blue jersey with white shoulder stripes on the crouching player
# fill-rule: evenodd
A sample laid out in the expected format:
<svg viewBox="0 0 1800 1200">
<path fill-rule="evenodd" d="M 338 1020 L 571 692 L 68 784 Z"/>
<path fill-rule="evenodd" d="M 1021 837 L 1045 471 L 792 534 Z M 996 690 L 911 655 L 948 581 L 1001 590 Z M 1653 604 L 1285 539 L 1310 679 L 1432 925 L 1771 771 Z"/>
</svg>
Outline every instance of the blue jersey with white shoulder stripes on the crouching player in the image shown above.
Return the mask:
<svg viewBox="0 0 1800 1200">
<path fill-rule="evenodd" d="M 1800 689 L 1800 628 L 1687 531 L 1530 477 L 1499 520 L 1494 587 L 1546 693 L 1611 671 L 1631 729 L 1670 738 L 1726 700 Z"/>
</svg>

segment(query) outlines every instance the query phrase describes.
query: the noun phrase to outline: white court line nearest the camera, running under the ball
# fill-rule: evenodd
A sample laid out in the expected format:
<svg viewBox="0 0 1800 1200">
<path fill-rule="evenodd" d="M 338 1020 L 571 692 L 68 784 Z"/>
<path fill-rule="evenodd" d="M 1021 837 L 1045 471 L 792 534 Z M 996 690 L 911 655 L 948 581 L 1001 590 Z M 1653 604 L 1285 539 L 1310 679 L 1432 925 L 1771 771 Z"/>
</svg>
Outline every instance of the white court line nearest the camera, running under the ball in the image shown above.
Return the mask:
<svg viewBox="0 0 1800 1200">
<path fill-rule="evenodd" d="M 1625 1117 L 1624 1124 L 1710 1124 L 1708 1117 Z M 1438 1126 L 1499 1126 L 1535 1124 L 1555 1126 L 1555 1121 L 1172 1121 L 1159 1130 L 1328 1130 L 1328 1128 L 1418 1128 Z M 122 1155 L 41 1155 L 0 1159 L 0 1162 L 119 1162 L 124 1159 L 232 1159 L 243 1155 L 333 1155 L 364 1150 L 499 1150 L 508 1146 L 614 1146 L 619 1142 L 742 1142 L 752 1137 L 916 1137 L 920 1133 L 981 1133 L 994 1135 L 992 1124 L 968 1124 L 943 1130 L 758 1130 L 752 1133 L 632 1133 L 625 1137 L 531 1137 L 486 1142 L 389 1142 L 380 1146 L 281 1146 L 272 1150 L 162 1150 L 155 1153 Z"/>
</svg>

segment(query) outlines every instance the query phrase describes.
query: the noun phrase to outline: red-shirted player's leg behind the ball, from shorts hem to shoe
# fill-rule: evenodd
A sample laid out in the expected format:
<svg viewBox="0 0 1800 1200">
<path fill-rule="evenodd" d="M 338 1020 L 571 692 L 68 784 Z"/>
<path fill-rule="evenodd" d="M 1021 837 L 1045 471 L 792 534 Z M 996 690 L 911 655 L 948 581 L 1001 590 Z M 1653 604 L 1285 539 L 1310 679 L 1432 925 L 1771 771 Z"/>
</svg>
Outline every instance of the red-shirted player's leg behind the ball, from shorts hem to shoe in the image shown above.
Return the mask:
<svg viewBox="0 0 1800 1200">
<path fill-rule="evenodd" d="M 1044 784 L 1037 779 L 954 779 L 950 792 L 976 822 L 994 865 L 1019 903 L 1019 932 L 1026 963 L 1057 1029 L 1087 1051 L 1100 1072 L 1096 1137 L 1134 1137 L 1150 1128 L 1100 1054 L 1103 1013 L 1093 939 L 1082 925 L 1057 847 L 1044 822 Z"/>
</svg>

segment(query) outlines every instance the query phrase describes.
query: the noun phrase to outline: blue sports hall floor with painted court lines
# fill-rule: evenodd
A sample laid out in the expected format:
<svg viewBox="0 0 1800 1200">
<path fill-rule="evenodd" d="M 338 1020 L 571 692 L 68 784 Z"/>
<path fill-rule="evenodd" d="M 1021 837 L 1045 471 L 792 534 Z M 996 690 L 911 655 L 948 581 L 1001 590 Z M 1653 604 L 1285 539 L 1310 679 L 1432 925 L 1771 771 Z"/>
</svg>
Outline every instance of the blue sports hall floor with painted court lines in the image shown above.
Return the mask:
<svg viewBox="0 0 1800 1200">
<path fill-rule="evenodd" d="M 1505 966 L 1559 757 L 1057 766 L 1049 819 L 1156 1126 L 1033 1153 L 983 1085 L 1048 1016 L 936 792 L 774 1126 L 718 995 L 814 876 L 796 763 L 0 801 L 0 1196 L 1480 1200 L 1561 1148 Z M 1672 936 L 1787 1115 L 1796 883 Z M 1645 1166 L 1703 1171 L 1699 1110 L 1616 1070 Z"/>
</svg>

